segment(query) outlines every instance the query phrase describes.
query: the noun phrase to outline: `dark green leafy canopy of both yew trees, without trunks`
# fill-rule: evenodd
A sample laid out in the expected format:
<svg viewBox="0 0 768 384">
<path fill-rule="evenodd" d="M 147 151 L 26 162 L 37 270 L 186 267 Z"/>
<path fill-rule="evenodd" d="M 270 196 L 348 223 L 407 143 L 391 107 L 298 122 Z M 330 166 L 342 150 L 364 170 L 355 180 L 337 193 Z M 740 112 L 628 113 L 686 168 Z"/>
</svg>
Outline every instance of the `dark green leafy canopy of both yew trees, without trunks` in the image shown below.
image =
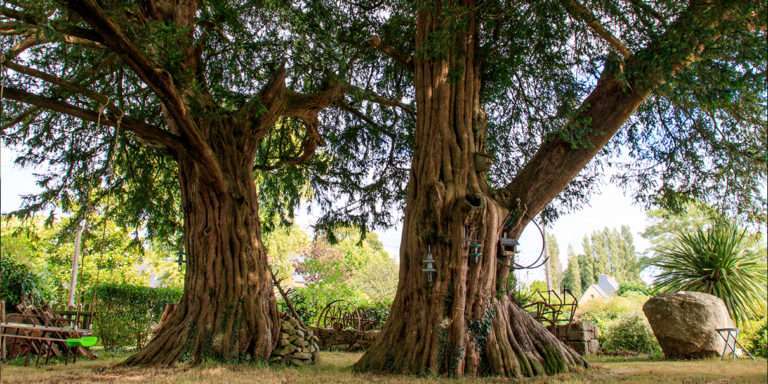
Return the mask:
<svg viewBox="0 0 768 384">
<path fill-rule="evenodd" d="M 318 133 L 326 145 L 306 166 L 293 164 L 304 155 L 307 134 L 292 119 L 262 142 L 254 167 L 270 170 L 259 179 L 269 214 L 289 220 L 300 200 L 309 198 L 325 208 L 323 223 L 368 228 L 393 223 L 400 205 L 392 204 L 402 201 L 407 177 L 414 112 L 407 68 L 415 38 L 411 2 L 202 1 L 189 15 L 189 26 L 145 14 L 161 14 L 163 3 L 99 4 L 158 68 L 184 87 L 205 90 L 223 110 L 242 108 L 281 63 L 297 90 L 311 92 L 334 81 L 350 85 L 344 100 L 320 114 Z M 619 60 L 616 47 L 566 3 L 478 5 L 484 32 L 482 96 L 489 152 L 496 159 L 490 178 L 497 186 L 510 181 L 547 135 L 563 127 L 606 63 Z M 618 47 L 634 51 L 662 34 L 686 4 L 583 6 Z M 146 9 L 153 6 L 158 9 Z M 763 8 L 708 50 L 711 59 L 660 87 L 571 182 L 558 206 L 578 206 L 598 188 L 596 181 L 612 176 L 649 204 L 675 205 L 680 198 L 696 197 L 753 219 L 763 217 L 759 187 L 766 181 L 768 144 Z M 66 210 L 103 199 L 109 188 L 120 191 L 114 194 L 120 209 L 113 214 L 126 224 L 146 224 L 163 237 L 169 228 L 178 229 L 175 166 L 162 151 L 142 146 L 130 128 L 143 122 L 171 129 L 164 126 L 157 94 L 119 53 L 105 49 L 76 12 L 55 1 L 9 1 L 2 18 L 3 138 L 7 144 L 26 144 L 21 164 L 43 164 L 50 171 L 41 175 L 44 192 L 30 196 L 28 208 L 58 204 Z M 184 52 L 192 49 L 193 55 Z M 390 108 L 394 105 L 399 108 Z M 99 111 L 105 112 L 104 121 Z M 116 125 L 118 116 L 124 116 L 122 129 L 107 127 Z M 571 135 L 568 139 L 578 145 L 578 133 Z M 280 158 L 289 165 L 277 167 Z M 111 180 L 109 170 L 115 173 Z"/>
</svg>

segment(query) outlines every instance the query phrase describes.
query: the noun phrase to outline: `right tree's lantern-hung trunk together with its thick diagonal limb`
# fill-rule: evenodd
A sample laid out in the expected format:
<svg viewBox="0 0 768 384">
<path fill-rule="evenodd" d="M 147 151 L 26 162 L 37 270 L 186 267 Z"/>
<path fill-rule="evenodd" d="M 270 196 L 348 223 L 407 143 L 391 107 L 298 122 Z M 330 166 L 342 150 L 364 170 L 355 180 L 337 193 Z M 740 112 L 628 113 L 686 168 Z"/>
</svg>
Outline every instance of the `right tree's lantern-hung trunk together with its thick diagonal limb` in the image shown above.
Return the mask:
<svg viewBox="0 0 768 384">
<path fill-rule="evenodd" d="M 358 370 L 519 377 L 585 366 L 505 296 L 512 255 L 500 246 L 501 233 L 519 237 L 653 89 L 699 60 L 722 36 L 724 21 L 743 17 L 749 7 L 691 2 L 645 48 L 625 50 L 620 65 L 605 66 L 595 89 L 561 128 L 583 129 L 581 122 L 590 121 L 589 145 L 550 138 L 496 191 L 483 174 L 479 9 L 471 0 L 420 3 L 413 60 L 416 147 L 400 282 L 390 318 Z M 480 252 L 471 250 L 472 242 L 481 245 Z M 422 271 L 429 253 L 435 260 L 433 283 Z"/>
</svg>

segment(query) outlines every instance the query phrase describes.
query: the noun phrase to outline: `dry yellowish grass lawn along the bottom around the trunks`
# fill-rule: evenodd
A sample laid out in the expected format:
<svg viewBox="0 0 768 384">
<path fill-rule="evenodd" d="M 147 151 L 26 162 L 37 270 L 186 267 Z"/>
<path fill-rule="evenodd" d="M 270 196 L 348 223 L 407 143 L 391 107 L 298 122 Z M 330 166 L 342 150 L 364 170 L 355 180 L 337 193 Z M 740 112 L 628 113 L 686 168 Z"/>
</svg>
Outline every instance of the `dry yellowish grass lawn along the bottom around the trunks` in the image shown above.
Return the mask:
<svg viewBox="0 0 768 384">
<path fill-rule="evenodd" d="M 503 378 L 446 379 L 394 375 L 356 374 L 351 365 L 359 353 L 323 352 L 312 367 L 267 368 L 259 365 L 208 364 L 195 368 L 111 368 L 125 355 L 79 361 L 76 365 L 49 364 L 40 368 L 5 364 L 2 383 L 508 383 Z M 738 361 L 594 361 L 592 368 L 554 377 L 522 380 L 523 383 L 766 383 L 766 360 Z"/>
</svg>

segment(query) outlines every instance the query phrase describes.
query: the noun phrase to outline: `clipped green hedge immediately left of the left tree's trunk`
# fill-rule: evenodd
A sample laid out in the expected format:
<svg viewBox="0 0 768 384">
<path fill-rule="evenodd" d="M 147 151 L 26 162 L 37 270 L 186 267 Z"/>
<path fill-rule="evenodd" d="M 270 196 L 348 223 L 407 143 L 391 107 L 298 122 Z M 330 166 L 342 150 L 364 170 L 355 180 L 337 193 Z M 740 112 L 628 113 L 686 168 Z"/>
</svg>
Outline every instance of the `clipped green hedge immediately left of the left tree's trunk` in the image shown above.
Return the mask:
<svg viewBox="0 0 768 384">
<path fill-rule="evenodd" d="M 160 321 L 165 305 L 177 303 L 182 294 L 179 289 L 127 284 L 100 284 L 94 291 L 94 332 L 107 350 L 141 348 Z"/>
</svg>

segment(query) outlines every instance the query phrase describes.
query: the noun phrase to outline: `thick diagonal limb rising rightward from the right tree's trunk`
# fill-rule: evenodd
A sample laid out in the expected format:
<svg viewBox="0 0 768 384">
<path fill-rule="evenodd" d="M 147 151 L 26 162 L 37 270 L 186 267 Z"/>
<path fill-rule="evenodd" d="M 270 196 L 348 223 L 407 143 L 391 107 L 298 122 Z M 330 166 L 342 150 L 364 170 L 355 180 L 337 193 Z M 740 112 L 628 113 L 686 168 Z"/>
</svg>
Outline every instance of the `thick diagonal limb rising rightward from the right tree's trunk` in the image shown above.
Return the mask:
<svg viewBox="0 0 768 384">
<path fill-rule="evenodd" d="M 548 137 L 512 182 L 495 193 L 496 199 L 513 212 L 525 207 L 528 217 L 536 216 L 654 89 L 701 58 L 704 48 L 720 38 L 722 32 L 717 27 L 742 5 L 729 1 L 693 2 L 663 35 L 627 60 L 623 71 L 606 65 L 578 114 L 561 130 L 564 134 Z M 575 143 L 564 137 L 580 139 Z M 521 220 L 511 235 L 519 235 L 528 222 Z"/>
</svg>

